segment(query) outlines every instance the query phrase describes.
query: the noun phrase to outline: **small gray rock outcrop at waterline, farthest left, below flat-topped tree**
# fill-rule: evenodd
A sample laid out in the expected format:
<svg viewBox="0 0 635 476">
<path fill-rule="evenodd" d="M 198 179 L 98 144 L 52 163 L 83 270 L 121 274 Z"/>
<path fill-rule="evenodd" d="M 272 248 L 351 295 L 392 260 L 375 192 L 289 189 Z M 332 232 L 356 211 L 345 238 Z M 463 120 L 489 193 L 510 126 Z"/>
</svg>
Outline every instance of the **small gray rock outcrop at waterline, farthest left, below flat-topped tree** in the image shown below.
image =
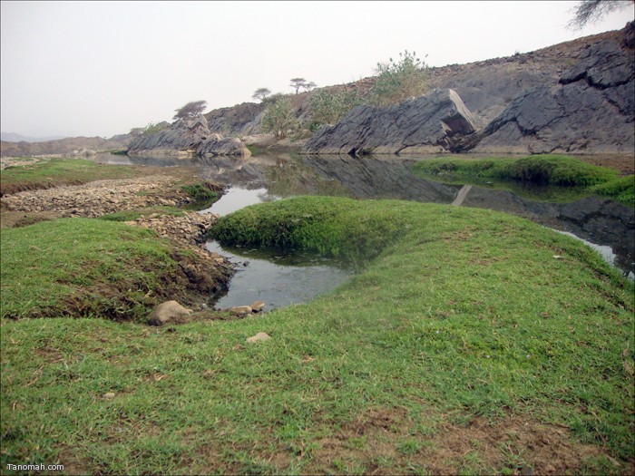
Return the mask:
<svg viewBox="0 0 635 476">
<path fill-rule="evenodd" d="M 249 149 L 237 138 L 224 139 L 211 133 L 204 117 L 181 119 L 170 129 L 137 137 L 128 149 L 129 155 L 167 156 L 249 156 Z"/>
</svg>

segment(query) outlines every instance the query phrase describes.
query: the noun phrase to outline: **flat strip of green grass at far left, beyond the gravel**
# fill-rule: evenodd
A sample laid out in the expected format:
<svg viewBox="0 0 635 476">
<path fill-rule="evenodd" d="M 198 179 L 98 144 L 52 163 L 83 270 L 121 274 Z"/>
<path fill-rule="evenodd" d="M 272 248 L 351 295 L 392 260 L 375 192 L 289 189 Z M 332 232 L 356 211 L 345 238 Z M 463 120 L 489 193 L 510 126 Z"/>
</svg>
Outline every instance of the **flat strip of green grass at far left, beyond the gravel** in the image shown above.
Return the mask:
<svg viewBox="0 0 635 476">
<path fill-rule="evenodd" d="M 83 159 L 52 159 L 34 165 L 7 167 L 0 174 L 0 194 L 93 180 L 128 179 L 139 174 L 126 165 L 104 165 Z"/>
</svg>

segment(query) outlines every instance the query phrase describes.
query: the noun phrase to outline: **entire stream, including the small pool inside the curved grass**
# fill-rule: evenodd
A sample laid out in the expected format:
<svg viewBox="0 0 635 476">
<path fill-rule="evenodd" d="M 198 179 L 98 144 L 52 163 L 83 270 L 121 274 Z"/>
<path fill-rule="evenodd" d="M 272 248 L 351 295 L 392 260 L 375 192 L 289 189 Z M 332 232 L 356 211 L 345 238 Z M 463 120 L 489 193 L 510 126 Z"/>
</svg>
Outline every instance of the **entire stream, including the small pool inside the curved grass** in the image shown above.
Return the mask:
<svg viewBox="0 0 635 476">
<path fill-rule="evenodd" d="M 541 187 L 496 189 L 487 183 L 443 183 L 412 172 L 421 157 L 352 157 L 280 153 L 254 157 L 200 159 L 148 158 L 99 154 L 107 163 L 195 167 L 201 179 L 228 187 L 210 209 L 221 216 L 251 204 L 298 195 L 356 199 L 405 199 L 462 207 L 494 209 L 531 219 L 547 228 L 582 239 L 624 276 L 635 277 L 635 211 L 593 196 L 562 199 Z M 465 187 L 466 186 L 466 187 Z M 307 302 L 352 275 L 343 263 L 293 250 L 223 248 L 207 243 L 239 265 L 230 290 L 217 308 L 267 303 L 266 310 Z"/>
</svg>

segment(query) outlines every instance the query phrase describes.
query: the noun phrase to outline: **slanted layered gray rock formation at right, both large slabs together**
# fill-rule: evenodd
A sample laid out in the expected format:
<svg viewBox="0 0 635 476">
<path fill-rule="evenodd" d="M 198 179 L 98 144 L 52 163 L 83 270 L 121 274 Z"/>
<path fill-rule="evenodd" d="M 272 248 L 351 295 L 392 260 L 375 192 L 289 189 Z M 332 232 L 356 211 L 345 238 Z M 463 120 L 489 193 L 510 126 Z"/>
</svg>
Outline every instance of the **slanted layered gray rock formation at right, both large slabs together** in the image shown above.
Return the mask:
<svg viewBox="0 0 635 476">
<path fill-rule="evenodd" d="M 528 73 L 529 83 L 538 79 L 542 83 L 503 99 L 509 101 L 506 106 L 493 98 L 493 106 L 486 108 L 483 92 L 466 88 L 465 94 L 485 117 L 474 117 L 454 90 L 435 90 L 384 109 L 357 107 L 337 125 L 318 131 L 304 152 L 632 153 L 632 24 L 620 33 L 576 50 L 577 60 L 570 59 L 573 63 L 558 76 L 553 76 L 554 70 Z M 506 85 L 502 92 L 511 94 L 509 82 L 500 79 Z M 485 121 L 496 110 L 502 112 Z M 478 124 L 485 124 L 484 128 L 474 133 Z"/>
</svg>

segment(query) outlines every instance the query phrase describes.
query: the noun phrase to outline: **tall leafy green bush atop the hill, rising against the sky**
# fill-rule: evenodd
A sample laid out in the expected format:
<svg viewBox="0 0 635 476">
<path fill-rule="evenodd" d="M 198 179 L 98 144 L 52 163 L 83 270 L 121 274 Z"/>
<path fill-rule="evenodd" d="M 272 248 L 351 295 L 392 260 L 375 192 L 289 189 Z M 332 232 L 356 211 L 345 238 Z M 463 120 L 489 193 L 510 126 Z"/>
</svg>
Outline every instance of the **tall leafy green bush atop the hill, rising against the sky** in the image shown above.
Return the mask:
<svg viewBox="0 0 635 476">
<path fill-rule="evenodd" d="M 370 102 L 386 106 L 425 93 L 427 65 L 408 50 L 399 53 L 399 58 L 398 62 L 390 58 L 389 63 L 377 63 Z"/>
</svg>

